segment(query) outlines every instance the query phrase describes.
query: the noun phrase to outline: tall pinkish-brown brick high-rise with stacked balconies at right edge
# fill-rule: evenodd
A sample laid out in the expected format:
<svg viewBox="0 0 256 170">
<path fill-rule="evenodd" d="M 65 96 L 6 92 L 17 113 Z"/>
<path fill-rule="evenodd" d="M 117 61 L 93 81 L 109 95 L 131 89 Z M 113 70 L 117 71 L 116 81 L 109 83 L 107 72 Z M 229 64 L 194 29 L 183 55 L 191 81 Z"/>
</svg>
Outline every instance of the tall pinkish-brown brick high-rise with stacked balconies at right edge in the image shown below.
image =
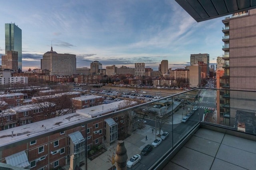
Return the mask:
<svg viewBox="0 0 256 170">
<path fill-rule="evenodd" d="M 220 77 L 220 123 L 234 125 L 237 112 L 246 110 L 246 116 L 255 115 L 255 100 L 249 91 L 256 90 L 256 9 L 238 12 L 226 17 L 222 22 L 224 36 L 224 75 Z M 249 90 L 239 96 L 237 91 Z M 248 107 L 250 106 L 250 107 Z M 238 119 L 240 119 L 238 117 Z M 242 120 L 238 120 L 242 121 Z"/>
</svg>

